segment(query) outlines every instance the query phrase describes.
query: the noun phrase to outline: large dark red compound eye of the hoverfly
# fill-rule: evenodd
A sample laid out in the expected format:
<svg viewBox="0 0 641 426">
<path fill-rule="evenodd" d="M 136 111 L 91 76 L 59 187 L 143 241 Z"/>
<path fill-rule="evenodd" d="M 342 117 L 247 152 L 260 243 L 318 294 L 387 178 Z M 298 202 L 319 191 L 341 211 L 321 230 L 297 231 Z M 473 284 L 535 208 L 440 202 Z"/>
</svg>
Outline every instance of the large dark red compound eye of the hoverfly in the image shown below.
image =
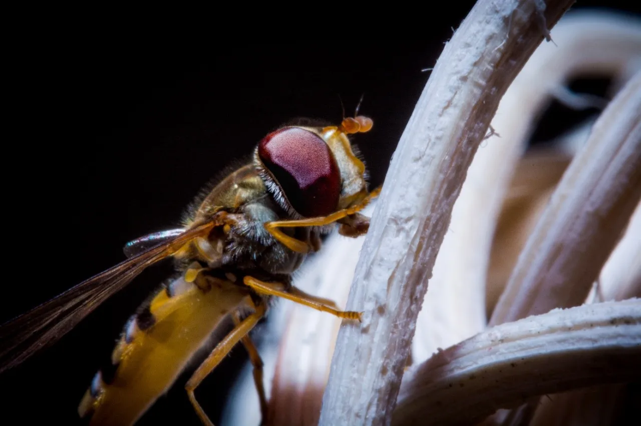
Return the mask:
<svg viewBox="0 0 641 426">
<path fill-rule="evenodd" d="M 265 136 L 258 156 L 303 217 L 333 213 L 340 196 L 340 172 L 327 143 L 310 131 L 285 127 Z"/>
</svg>

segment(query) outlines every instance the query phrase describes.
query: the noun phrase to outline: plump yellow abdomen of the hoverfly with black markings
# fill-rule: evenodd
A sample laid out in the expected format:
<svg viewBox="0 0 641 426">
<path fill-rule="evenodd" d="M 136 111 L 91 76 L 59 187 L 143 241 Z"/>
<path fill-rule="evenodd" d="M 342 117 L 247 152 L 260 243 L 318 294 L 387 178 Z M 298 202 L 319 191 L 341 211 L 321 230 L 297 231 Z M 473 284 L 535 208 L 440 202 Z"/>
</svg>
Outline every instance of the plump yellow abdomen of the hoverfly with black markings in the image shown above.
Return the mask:
<svg viewBox="0 0 641 426">
<path fill-rule="evenodd" d="M 78 412 L 90 425 L 130 425 L 167 391 L 192 355 L 231 311 L 251 307 L 247 291 L 228 279 L 198 275 L 163 288 L 122 333 L 112 372 L 98 372 Z"/>
</svg>

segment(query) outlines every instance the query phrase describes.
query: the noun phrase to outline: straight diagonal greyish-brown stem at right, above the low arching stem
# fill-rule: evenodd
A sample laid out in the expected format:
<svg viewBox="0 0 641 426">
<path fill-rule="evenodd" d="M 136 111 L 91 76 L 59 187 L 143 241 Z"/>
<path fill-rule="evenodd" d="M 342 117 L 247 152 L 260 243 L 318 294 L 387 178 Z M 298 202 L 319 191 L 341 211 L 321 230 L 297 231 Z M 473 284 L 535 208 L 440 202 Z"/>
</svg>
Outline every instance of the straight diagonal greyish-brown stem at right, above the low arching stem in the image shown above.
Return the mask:
<svg viewBox="0 0 641 426">
<path fill-rule="evenodd" d="M 640 199 L 641 72 L 610 102 L 570 163 L 490 324 L 581 304 Z"/>
</svg>

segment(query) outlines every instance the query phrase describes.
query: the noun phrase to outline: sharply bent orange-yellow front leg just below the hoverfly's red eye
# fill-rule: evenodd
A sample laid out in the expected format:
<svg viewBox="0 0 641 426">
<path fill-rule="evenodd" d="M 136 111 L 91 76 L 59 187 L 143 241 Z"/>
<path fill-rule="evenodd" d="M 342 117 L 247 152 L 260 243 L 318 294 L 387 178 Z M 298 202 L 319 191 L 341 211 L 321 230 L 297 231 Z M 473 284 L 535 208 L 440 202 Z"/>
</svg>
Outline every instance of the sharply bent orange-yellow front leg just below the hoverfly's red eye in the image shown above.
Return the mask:
<svg viewBox="0 0 641 426">
<path fill-rule="evenodd" d="M 293 238 L 291 236 L 288 236 L 278 228 L 329 225 L 344 217 L 353 215 L 354 213 L 358 213 L 358 211 L 361 211 L 362 209 L 364 209 L 365 206 L 367 206 L 367 204 L 369 204 L 369 202 L 372 201 L 372 199 L 378 197 L 378 194 L 380 192 L 381 192 L 381 188 L 376 188 L 375 190 L 370 192 L 367 195 L 367 197 L 365 197 L 363 201 L 361 201 L 360 203 L 346 209 L 338 210 L 337 212 L 332 213 L 331 215 L 328 215 L 328 216 L 312 217 L 312 218 L 299 219 L 299 220 L 276 220 L 274 222 L 265 223 L 265 229 L 267 229 L 267 231 L 269 231 L 269 233 L 272 234 L 274 238 L 276 238 L 276 240 L 283 243 L 283 245 L 285 245 L 285 247 L 287 247 L 288 249 L 294 250 L 295 252 L 298 252 L 298 253 L 308 253 L 310 252 L 310 249 L 311 249 L 308 243 L 303 242 L 301 240 L 297 240 L 296 238 Z"/>
</svg>

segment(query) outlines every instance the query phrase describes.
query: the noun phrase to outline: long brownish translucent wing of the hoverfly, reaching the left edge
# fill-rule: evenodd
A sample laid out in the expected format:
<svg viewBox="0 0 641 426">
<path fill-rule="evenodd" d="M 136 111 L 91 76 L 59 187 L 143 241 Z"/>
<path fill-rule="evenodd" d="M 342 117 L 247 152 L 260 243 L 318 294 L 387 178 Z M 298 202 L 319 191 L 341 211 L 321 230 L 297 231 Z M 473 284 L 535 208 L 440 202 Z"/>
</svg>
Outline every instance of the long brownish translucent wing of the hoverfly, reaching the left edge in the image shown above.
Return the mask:
<svg viewBox="0 0 641 426">
<path fill-rule="evenodd" d="M 194 238 L 207 236 L 217 224 L 208 222 L 164 240 L 1 325 L 0 373 L 62 338 L 147 266 L 171 256 Z"/>
</svg>

